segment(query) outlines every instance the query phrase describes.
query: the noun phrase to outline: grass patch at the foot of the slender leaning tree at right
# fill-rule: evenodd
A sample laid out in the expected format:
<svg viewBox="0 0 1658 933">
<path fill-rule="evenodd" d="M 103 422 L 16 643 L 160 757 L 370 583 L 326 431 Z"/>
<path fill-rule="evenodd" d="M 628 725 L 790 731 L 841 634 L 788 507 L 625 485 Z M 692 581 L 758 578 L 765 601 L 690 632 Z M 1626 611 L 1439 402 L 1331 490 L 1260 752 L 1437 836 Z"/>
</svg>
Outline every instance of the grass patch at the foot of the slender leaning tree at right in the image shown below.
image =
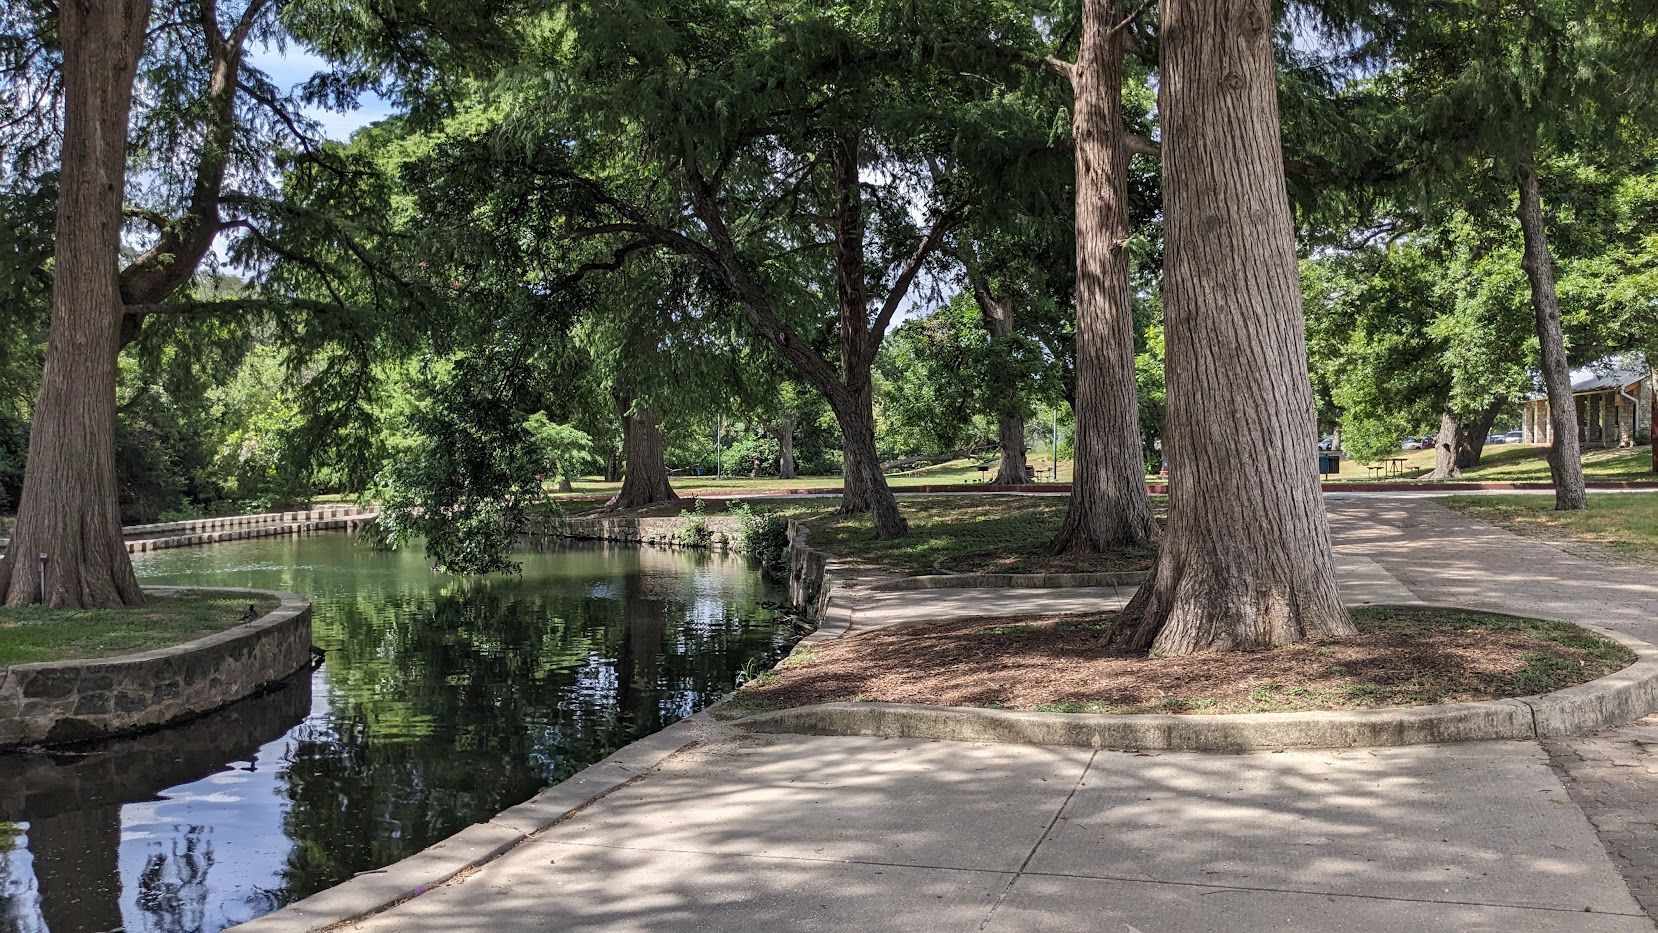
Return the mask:
<svg viewBox="0 0 1658 933">
<path fill-rule="evenodd" d="M 1582 512 L 1555 512 L 1552 496 L 1449 496 L 1441 502 L 1517 534 L 1658 560 L 1658 492 L 1590 492 Z"/>
</svg>

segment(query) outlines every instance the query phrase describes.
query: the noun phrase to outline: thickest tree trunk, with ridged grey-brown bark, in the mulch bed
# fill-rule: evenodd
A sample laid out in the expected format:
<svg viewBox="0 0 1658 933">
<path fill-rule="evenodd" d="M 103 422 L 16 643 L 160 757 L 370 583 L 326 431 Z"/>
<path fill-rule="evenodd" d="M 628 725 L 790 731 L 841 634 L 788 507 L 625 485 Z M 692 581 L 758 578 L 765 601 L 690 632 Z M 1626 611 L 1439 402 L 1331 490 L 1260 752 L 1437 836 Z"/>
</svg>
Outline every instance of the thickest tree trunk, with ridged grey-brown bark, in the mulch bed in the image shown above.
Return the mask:
<svg viewBox="0 0 1658 933">
<path fill-rule="evenodd" d="M 1113 638 L 1353 635 L 1336 595 L 1267 0 L 1162 0 L 1169 527 Z"/>
</svg>

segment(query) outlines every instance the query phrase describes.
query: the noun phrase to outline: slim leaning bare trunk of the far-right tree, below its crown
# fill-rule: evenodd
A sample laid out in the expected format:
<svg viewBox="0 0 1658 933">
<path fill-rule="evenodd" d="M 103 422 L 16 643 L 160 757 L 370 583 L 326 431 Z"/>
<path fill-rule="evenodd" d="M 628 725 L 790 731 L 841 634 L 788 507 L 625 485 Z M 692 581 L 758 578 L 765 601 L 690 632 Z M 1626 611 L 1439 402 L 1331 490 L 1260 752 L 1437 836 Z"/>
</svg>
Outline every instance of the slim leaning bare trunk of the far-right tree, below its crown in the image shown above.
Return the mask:
<svg viewBox="0 0 1658 933">
<path fill-rule="evenodd" d="M 1565 356 L 1565 333 L 1560 328 L 1560 295 L 1555 290 L 1554 260 L 1544 230 L 1544 201 L 1537 169 L 1530 159 L 1520 162 L 1519 207 L 1525 252 L 1520 265 L 1532 287 L 1532 312 L 1537 315 L 1537 345 L 1542 351 L 1544 391 L 1549 393 L 1549 474 L 1555 484 L 1555 509 L 1588 509 L 1583 486 L 1583 446 L 1578 436 L 1577 403 L 1572 399 L 1572 365 Z"/>
</svg>

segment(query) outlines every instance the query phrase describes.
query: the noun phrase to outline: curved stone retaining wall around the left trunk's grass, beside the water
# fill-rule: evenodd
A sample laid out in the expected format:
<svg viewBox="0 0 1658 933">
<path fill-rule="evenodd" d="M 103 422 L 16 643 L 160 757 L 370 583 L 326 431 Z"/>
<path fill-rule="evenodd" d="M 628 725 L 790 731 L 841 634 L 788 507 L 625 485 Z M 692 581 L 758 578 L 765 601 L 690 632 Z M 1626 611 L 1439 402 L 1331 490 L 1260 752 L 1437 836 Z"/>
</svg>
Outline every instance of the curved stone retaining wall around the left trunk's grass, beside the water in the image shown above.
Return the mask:
<svg viewBox="0 0 1658 933">
<path fill-rule="evenodd" d="M 275 597 L 279 605 L 262 618 L 171 648 L 7 668 L 0 673 L 0 749 L 83 742 L 192 719 L 310 663 L 312 607 L 303 597 L 227 587 L 146 592 L 250 593 Z"/>
</svg>

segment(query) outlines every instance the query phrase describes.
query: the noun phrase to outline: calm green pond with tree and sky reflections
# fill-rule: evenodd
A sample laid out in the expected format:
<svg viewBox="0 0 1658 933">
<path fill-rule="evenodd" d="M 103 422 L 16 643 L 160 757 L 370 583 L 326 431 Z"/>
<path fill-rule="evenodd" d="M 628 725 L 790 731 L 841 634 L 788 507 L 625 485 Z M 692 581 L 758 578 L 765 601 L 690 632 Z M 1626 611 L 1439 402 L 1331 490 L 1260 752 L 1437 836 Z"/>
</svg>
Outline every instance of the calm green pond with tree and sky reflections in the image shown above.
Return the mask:
<svg viewBox="0 0 1658 933">
<path fill-rule="evenodd" d="M 343 534 L 134 555 L 144 583 L 293 590 L 327 661 L 212 716 L 0 756 L 0 928 L 216 931 L 517 804 L 769 668 L 739 557 L 569 545 L 433 573 Z"/>
</svg>

